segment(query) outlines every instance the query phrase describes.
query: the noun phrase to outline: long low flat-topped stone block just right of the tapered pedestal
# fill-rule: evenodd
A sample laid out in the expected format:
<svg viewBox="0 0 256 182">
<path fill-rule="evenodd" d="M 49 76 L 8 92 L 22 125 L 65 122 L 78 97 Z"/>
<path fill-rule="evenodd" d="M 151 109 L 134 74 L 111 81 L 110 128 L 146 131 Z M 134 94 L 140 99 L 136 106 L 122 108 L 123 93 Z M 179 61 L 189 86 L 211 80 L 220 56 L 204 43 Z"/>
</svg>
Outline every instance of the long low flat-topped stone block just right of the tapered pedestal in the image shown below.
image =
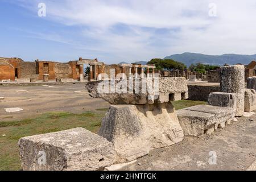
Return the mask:
<svg viewBox="0 0 256 182">
<path fill-rule="evenodd" d="M 196 137 L 224 127 L 226 122 L 234 119 L 235 113 L 229 107 L 198 105 L 178 110 L 177 117 L 184 135 Z"/>
</svg>

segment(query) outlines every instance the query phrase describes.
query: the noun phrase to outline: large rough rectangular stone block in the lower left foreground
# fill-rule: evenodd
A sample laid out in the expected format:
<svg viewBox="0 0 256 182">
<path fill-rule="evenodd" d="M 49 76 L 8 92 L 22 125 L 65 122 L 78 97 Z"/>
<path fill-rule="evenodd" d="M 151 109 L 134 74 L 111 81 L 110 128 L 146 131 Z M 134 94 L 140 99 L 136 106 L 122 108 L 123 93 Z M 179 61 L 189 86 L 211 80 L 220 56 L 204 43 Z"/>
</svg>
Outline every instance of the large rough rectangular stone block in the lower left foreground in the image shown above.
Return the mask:
<svg viewBox="0 0 256 182">
<path fill-rule="evenodd" d="M 115 160 L 112 143 L 82 128 L 24 137 L 18 146 L 25 171 L 99 170 Z"/>
</svg>

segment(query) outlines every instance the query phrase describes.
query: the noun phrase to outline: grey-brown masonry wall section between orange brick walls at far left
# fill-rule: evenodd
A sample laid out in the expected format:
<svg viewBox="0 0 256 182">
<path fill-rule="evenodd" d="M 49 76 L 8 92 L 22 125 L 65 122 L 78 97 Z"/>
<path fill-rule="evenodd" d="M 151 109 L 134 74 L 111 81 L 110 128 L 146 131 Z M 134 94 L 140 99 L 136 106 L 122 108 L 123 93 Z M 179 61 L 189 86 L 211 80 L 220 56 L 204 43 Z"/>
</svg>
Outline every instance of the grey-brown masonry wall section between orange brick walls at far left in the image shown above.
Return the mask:
<svg viewBox="0 0 256 182">
<path fill-rule="evenodd" d="M 31 78 L 36 75 L 35 62 L 23 62 L 19 64 L 18 78 Z"/>
</svg>

